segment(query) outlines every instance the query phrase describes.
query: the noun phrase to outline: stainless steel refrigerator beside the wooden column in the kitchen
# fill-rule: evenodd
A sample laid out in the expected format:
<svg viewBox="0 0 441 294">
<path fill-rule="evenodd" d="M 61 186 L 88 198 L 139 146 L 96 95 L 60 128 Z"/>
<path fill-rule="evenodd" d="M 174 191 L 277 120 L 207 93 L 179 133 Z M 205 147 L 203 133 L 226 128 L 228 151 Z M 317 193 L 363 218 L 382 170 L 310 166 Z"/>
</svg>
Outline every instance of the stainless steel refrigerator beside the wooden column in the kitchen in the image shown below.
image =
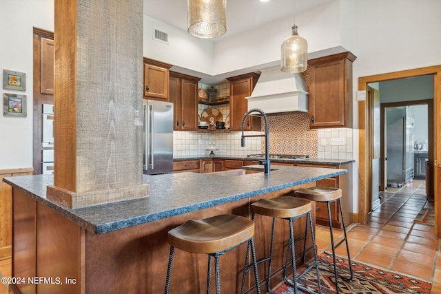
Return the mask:
<svg viewBox="0 0 441 294">
<path fill-rule="evenodd" d="M 144 100 L 144 174 L 173 171 L 173 103 Z"/>
</svg>

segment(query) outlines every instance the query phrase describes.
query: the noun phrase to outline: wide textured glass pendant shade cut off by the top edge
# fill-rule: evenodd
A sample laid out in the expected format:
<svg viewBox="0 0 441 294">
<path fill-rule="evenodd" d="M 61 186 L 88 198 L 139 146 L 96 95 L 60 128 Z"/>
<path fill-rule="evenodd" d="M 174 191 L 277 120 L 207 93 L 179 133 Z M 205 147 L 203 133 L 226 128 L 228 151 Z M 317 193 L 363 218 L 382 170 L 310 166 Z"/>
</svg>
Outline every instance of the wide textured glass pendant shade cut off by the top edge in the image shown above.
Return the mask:
<svg viewBox="0 0 441 294">
<path fill-rule="evenodd" d="M 202 39 L 225 34 L 226 5 L 227 0 L 187 0 L 189 34 Z"/>
</svg>

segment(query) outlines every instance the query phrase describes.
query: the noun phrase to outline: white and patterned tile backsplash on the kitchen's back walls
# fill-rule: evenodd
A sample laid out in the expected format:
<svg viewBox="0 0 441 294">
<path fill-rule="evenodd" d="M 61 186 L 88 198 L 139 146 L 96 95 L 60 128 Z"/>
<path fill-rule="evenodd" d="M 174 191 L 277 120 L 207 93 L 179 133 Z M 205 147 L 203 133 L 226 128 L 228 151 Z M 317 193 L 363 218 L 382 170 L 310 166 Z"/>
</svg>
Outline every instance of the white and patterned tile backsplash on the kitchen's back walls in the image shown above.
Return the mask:
<svg viewBox="0 0 441 294">
<path fill-rule="evenodd" d="M 199 83 L 206 92 L 209 85 Z M 229 83 L 214 86 L 218 96 L 229 96 Z M 213 108 L 213 109 L 209 109 Z M 204 113 L 205 112 L 205 113 Z M 198 114 L 222 114 L 225 126 L 229 125 L 229 104 L 199 104 Z M 311 158 L 352 159 L 353 131 L 347 128 L 309 129 L 309 114 L 268 116 L 269 153 L 309 155 Z M 262 120 L 262 129 L 264 123 Z M 258 132 L 252 132 L 261 134 Z M 209 154 L 209 145 L 216 145 L 215 154 L 239 155 L 261 154 L 265 152 L 265 140 L 260 137 L 247 138 L 246 147 L 240 147 L 240 132 L 198 133 L 174 132 L 174 156 L 194 156 Z M 335 145 L 338 144 L 338 145 Z"/>
</svg>

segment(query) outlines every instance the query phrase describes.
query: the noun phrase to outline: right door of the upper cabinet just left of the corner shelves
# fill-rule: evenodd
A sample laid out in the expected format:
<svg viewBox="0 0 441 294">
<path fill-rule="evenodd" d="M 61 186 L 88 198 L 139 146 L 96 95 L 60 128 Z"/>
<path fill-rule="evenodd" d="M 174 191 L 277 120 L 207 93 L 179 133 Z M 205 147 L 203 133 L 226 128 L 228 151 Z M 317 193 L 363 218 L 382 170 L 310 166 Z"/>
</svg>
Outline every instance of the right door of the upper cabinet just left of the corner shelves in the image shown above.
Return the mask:
<svg viewBox="0 0 441 294">
<path fill-rule="evenodd" d="M 181 129 L 183 131 L 198 130 L 198 83 L 181 79 Z"/>
</svg>

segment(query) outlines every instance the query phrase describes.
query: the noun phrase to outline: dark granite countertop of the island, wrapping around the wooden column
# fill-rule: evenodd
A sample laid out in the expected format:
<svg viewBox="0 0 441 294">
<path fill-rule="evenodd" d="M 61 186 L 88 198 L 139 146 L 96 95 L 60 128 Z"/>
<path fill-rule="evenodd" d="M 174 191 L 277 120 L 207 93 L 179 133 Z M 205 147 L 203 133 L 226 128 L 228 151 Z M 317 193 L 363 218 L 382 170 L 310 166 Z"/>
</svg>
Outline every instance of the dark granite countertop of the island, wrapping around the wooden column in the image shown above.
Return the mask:
<svg viewBox="0 0 441 294">
<path fill-rule="evenodd" d="M 262 169 L 262 166 L 247 168 Z M 347 173 L 346 169 L 318 167 L 278 165 L 273 168 L 276 170 L 269 175 L 220 176 L 190 172 L 144 175 L 143 182 L 150 185 L 149 197 L 81 209 L 67 209 L 46 198 L 46 186 L 53 184 L 52 175 L 8 177 L 3 181 L 86 230 L 101 234 Z"/>
</svg>

